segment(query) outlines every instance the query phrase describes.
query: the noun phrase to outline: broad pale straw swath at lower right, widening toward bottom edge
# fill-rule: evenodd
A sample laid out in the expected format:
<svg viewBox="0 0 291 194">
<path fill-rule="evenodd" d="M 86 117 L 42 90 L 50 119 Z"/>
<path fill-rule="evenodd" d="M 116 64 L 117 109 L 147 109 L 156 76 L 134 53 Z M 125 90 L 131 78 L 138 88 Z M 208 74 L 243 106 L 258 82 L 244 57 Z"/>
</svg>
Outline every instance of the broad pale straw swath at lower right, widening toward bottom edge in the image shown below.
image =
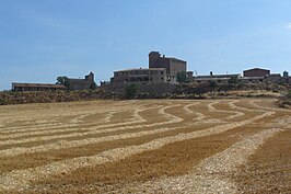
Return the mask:
<svg viewBox="0 0 291 194">
<path fill-rule="evenodd" d="M 266 139 L 282 132 L 278 128 L 263 130 L 259 134 L 248 136 L 224 151 L 205 159 L 184 176 L 159 180 L 140 185 L 135 191 L 142 190 L 146 193 L 193 192 L 193 193 L 236 193 L 237 185 L 229 176 L 236 169 L 247 163 L 247 159 L 255 153 Z"/>
</svg>

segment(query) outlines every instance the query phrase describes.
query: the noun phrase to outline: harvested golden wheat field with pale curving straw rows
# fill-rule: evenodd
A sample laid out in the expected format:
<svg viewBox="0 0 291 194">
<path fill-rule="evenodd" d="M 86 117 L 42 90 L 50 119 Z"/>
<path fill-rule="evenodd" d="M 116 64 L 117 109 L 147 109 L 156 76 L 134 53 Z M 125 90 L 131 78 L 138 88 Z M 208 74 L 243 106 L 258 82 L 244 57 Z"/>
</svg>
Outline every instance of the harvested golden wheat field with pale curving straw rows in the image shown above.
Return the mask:
<svg viewBox="0 0 291 194">
<path fill-rule="evenodd" d="M 291 111 L 270 99 L 0 107 L 0 193 L 290 193 Z"/>
</svg>

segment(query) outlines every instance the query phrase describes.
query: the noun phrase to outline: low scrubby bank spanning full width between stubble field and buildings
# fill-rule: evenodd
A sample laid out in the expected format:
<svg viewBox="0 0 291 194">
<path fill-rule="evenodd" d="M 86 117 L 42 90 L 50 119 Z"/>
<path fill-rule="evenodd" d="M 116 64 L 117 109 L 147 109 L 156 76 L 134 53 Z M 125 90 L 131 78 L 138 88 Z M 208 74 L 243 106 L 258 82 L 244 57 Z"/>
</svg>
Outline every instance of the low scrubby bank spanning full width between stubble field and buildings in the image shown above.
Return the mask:
<svg viewBox="0 0 291 194">
<path fill-rule="evenodd" d="M 125 99 L 277 98 L 291 85 L 259 84 L 132 84 L 82 91 L 0 92 L 0 105 Z M 128 90 L 129 89 L 129 90 Z"/>
</svg>

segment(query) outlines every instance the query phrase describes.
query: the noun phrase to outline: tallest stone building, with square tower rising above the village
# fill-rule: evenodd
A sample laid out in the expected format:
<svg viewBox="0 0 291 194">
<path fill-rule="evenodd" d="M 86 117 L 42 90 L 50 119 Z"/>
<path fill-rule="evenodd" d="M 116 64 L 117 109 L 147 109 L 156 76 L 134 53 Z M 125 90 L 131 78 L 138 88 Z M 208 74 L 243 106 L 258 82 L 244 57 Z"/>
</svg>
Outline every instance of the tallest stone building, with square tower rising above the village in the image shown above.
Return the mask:
<svg viewBox="0 0 291 194">
<path fill-rule="evenodd" d="M 177 58 L 161 57 L 159 52 L 151 52 L 149 54 L 149 68 L 165 68 L 166 81 L 171 83 L 176 82 L 177 73 L 187 72 L 187 62 Z"/>
</svg>

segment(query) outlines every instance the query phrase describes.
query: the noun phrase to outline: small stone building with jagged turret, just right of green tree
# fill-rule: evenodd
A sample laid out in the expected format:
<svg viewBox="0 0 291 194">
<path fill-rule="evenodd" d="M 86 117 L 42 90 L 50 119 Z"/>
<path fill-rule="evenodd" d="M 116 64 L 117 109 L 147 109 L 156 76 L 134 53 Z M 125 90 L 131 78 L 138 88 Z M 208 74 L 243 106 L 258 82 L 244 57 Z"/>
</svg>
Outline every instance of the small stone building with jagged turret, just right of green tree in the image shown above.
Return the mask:
<svg viewBox="0 0 291 194">
<path fill-rule="evenodd" d="M 84 79 L 68 78 L 68 90 L 88 90 L 95 85 L 94 73 L 85 76 Z"/>
</svg>

